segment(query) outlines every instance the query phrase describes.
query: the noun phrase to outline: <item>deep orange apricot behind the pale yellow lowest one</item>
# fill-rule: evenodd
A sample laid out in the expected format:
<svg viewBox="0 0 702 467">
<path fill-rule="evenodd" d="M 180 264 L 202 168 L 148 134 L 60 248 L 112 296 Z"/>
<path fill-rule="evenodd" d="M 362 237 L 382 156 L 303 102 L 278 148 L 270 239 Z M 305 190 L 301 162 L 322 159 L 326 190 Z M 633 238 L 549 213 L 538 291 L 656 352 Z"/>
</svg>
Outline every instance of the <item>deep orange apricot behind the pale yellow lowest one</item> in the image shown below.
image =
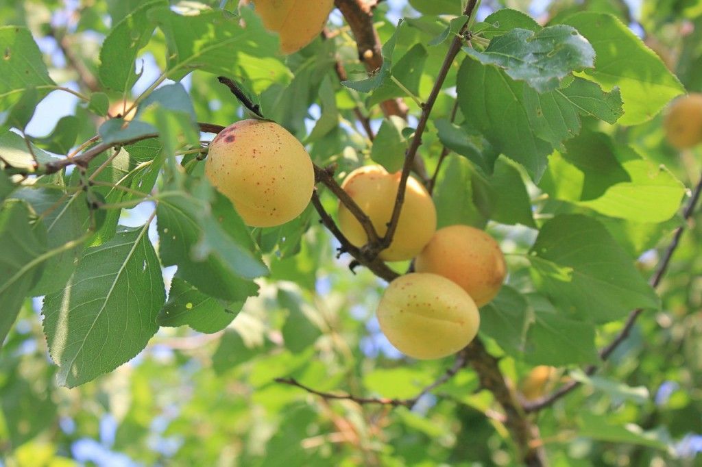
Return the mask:
<svg viewBox="0 0 702 467">
<path fill-rule="evenodd" d="M 467 225 L 437 230 L 415 258 L 414 267 L 417 272 L 453 280 L 477 306 L 494 299 L 507 273 L 500 245 L 484 231 Z"/>
</svg>

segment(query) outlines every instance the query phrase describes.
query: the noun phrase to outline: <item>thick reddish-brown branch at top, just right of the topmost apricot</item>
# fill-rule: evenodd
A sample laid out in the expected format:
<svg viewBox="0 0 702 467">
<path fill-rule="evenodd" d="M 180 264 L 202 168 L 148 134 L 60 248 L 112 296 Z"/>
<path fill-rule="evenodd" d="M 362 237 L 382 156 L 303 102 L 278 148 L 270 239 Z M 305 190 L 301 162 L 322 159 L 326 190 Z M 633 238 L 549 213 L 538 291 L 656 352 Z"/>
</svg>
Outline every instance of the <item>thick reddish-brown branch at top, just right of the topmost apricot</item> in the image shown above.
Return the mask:
<svg viewBox="0 0 702 467">
<path fill-rule="evenodd" d="M 358 57 L 366 67 L 366 71 L 373 73 L 383 66 L 383 53 L 380 45 L 380 37 L 376 28 L 373 27 L 373 7 L 377 2 L 371 4 L 363 0 L 334 0 L 336 8 L 346 19 L 356 38 L 358 47 Z M 407 106 L 402 99 L 390 99 L 380 103 L 385 116 L 397 115 L 403 119 L 407 118 Z"/>
</svg>

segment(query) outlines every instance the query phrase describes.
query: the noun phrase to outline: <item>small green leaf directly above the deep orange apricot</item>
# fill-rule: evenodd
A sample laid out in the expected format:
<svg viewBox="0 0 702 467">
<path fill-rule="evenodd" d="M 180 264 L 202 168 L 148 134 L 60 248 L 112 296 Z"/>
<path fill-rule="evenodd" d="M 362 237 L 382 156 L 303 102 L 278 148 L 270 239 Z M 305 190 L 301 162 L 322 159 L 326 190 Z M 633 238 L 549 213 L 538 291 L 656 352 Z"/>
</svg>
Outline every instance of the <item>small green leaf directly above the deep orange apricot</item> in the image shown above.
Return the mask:
<svg viewBox="0 0 702 467">
<path fill-rule="evenodd" d="M 446 156 L 437 180 L 434 203 L 437 207 L 437 229 L 453 224 L 466 224 L 482 229 L 487 213 L 473 201 L 473 168 L 463 157 Z"/>
</svg>

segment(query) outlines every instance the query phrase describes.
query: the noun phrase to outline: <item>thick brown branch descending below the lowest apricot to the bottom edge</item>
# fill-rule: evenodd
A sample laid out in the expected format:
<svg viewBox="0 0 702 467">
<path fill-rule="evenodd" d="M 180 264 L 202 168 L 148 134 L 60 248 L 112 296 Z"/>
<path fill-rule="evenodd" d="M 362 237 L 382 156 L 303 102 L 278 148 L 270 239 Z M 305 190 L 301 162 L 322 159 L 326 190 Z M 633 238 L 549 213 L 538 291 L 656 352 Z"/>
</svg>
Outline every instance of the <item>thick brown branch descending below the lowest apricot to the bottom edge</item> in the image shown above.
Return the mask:
<svg viewBox="0 0 702 467">
<path fill-rule="evenodd" d="M 539 438 L 538 427 L 531 423 L 515 393 L 505 383 L 498 360 L 486 351 L 482 341 L 477 337 L 468 344 L 466 351 L 468 363 L 478 374 L 480 385 L 490 391 L 502 406 L 505 412 L 505 426 L 512 433 L 522 463 L 527 466 L 546 465 L 543 449 L 534 447 L 538 445 L 533 442 Z"/>
</svg>

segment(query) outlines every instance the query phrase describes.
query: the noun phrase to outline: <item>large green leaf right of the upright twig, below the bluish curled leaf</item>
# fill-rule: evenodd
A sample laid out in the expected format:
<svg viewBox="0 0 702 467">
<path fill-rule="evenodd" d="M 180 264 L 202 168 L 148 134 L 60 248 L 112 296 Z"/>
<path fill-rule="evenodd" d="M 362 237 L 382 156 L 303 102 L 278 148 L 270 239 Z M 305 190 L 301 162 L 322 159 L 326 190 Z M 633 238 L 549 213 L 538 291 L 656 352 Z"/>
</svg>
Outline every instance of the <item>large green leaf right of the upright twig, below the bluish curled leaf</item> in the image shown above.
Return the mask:
<svg viewBox="0 0 702 467">
<path fill-rule="evenodd" d="M 524 108 L 522 83 L 512 81 L 491 65 L 466 58 L 458 71 L 458 104 L 463 115 L 502 152 L 524 165 L 538 180 L 552 151 L 538 137 Z"/>
</svg>

